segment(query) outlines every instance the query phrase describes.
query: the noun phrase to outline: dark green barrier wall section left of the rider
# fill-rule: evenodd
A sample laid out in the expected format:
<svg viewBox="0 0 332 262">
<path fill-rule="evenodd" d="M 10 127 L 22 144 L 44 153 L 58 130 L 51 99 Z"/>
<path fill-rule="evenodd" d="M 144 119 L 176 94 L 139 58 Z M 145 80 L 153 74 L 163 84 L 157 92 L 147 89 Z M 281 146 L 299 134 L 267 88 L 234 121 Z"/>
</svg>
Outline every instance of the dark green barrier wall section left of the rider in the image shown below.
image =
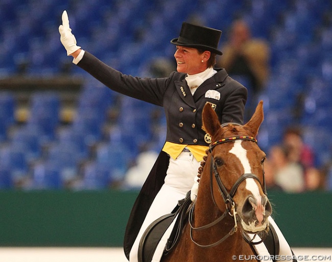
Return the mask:
<svg viewBox="0 0 332 262">
<path fill-rule="evenodd" d="M 137 192 L 0 192 L 0 246 L 122 246 Z"/>
</svg>

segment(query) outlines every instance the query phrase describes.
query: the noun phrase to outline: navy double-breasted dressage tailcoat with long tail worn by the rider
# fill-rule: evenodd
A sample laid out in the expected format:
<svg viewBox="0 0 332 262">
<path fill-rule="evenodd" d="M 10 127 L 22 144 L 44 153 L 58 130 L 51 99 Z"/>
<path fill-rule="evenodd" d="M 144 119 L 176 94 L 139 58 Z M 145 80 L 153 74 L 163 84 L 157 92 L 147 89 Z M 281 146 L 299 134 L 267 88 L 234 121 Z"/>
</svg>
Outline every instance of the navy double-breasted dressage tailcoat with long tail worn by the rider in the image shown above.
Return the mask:
<svg viewBox="0 0 332 262">
<path fill-rule="evenodd" d="M 107 66 L 87 51 L 77 65 L 116 92 L 163 107 L 167 119 L 166 141 L 208 146 L 202 129 L 202 111 L 207 102 L 212 104 L 221 123 L 243 124 L 247 89 L 229 77 L 223 68 L 216 68 L 217 73 L 192 95 L 185 73 L 172 72 L 165 78 L 133 77 Z M 220 98 L 208 97 L 209 90 L 219 92 Z M 127 258 L 149 207 L 164 183 L 168 165 L 169 155 L 161 151 L 134 203 L 125 233 Z"/>
</svg>

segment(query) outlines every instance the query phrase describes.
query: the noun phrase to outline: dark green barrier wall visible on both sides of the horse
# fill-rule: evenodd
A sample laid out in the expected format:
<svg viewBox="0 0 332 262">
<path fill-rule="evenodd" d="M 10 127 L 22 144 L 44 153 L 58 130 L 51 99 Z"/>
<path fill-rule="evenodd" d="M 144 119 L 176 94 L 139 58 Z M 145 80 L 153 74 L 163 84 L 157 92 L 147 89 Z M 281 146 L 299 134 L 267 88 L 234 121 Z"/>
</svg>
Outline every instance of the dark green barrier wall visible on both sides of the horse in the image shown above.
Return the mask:
<svg viewBox="0 0 332 262">
<path fill-rule="evenodd" d="M 0 191 L 0 246 L 122 246 L 137 192 Z M 332 247 L 332 193 L 269 192 L 293 247 Z"/>
</svg>

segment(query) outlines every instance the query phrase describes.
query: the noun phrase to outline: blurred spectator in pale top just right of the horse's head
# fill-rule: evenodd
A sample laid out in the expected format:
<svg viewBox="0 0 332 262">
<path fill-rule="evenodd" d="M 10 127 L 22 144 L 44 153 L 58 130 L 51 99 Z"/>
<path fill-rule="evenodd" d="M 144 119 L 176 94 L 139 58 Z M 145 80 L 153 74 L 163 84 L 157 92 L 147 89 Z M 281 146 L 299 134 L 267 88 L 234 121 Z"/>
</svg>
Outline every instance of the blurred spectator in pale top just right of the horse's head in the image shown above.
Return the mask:
<svg viewBox="0 0 332 262">
<path fill-rule="evenodd" d="M 275 184 L 285 192 L 302 192 L 305 187 L 302 166 L 289 160 L 289 150 L 284 146 L 273 146 L 269 152 Z"/>
</svg>

